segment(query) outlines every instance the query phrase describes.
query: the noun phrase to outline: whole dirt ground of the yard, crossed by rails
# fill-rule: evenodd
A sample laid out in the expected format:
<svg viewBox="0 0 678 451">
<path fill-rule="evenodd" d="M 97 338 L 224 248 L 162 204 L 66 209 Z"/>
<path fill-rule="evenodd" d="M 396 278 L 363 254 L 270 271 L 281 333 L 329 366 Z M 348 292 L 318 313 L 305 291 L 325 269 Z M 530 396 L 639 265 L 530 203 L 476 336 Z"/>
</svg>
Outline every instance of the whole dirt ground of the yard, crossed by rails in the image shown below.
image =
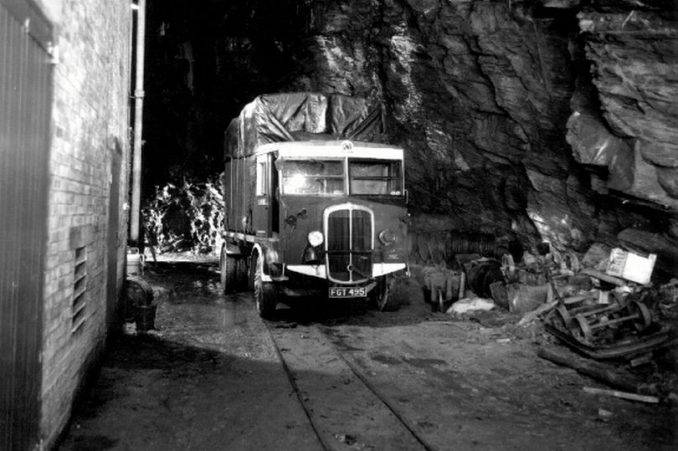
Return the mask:
<svg viewBox="0 0 678 451">
<path fill-rule="evenodd" d="M 274 322 L 220 293 L 216 262 L 145 278 L 155 328 L 127 324 L 59 450 L 678 449 L 675 406 L 588 394 L 610 387 L 540 359 L 543 329 L 434 313 L 416 277 L 394 312 L 309 301 Z"/>
</svg>

